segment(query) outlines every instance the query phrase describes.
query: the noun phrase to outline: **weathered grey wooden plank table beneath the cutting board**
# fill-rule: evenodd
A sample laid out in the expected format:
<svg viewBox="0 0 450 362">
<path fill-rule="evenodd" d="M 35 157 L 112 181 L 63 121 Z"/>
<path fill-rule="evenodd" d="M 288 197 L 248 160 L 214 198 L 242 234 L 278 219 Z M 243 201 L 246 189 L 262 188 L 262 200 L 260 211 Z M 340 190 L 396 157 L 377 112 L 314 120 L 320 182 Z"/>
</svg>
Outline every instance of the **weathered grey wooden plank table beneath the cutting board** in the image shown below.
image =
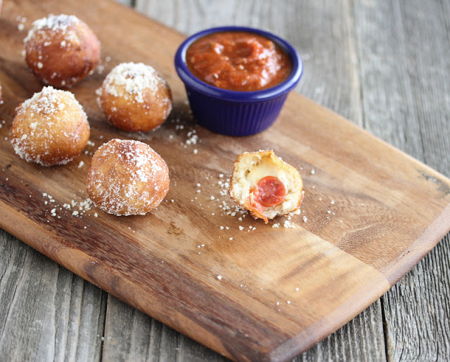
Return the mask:
<svg viewBox="0 0 450 362">
<path fill-rule="evenodd" d="M 185 34 L 237 24 L 288 39 L 304 60 L 298 92 L 450 176 L 450 1 L 122 2 Z M 449 259 L 448 234 L 295 361 L 449 361 Z M 0 361 L 103 359 L 225 358 L 0 230 Z"/>
</svg>

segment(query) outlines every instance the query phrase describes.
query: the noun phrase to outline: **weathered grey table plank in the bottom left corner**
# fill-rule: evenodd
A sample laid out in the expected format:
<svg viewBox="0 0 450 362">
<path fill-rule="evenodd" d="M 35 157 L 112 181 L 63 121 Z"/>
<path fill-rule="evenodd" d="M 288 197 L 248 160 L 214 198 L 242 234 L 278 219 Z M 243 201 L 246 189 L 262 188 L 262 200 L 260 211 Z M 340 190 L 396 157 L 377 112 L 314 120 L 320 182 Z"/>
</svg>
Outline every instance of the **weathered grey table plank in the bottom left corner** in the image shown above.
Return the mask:
<svg viewBox="0 0 450 362">
<path fill-rule="evenodd" d="M 99 361 L 105 293 L 3 230 L 0 250 L 0 356 Z"/>
</svg>

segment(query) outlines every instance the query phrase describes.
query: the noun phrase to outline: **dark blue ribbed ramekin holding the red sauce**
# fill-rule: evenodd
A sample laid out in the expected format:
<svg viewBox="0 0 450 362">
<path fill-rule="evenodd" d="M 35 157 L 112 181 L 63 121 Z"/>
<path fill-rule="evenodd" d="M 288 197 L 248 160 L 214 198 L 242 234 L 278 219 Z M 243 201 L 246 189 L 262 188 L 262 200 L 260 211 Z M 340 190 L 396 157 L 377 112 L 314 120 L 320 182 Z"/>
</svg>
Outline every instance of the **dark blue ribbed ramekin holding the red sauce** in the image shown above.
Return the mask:
<svg viewBox="0 0 450 362">
<path fill-rule="evenodd" d="M 208 34 L 233 31 L 252 32 L 277 43 L 292 62 L 290 76 L 274 87 L 250 92 L 217 88 L 193 76 L 186 66 L 186 51 L 191 43 Z M 245 136 L 262 132 L 274 123 L 288 93 L 300 81 L 303 65 L 295 48 L 274 34 L 250 27 L 215 27 L 181 43 L 175 55 L 175 69 L 186 87 L 193 116 L 202 126 L 223 135 Z"/>
</svg>

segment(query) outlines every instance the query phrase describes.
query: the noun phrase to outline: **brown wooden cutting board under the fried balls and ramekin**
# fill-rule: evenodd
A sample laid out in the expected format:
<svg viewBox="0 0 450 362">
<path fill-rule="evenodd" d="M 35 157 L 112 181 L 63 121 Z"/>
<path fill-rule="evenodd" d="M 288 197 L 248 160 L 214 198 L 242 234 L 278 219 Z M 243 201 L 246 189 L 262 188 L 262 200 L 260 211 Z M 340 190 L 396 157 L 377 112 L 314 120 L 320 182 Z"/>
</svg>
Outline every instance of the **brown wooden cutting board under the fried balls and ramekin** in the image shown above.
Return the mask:
<svg viewBox="0 0 450 362">
<path fill-rule="evenodd" d="M 102 65 L 71 90 L 89 116 L 91 142 L 72 163 L 44 168 L 19 159 L 9 136 L 15 107 L 42 88 L 23 61 L 23 38 L 49 13 L 87 22 L 102 42 Z M 450 180 L 295 93 L 264 133 L 210 133 L 189 113 L 174 72 L 183 39 L 108 0 L 4 3 L 0 226 L 229 358 L 287 361 L 377 300 L 442 239 Z M 117 130 L 97 105 L 105 75 L 129 61 L 153 65 L 172 87 L 174 111 L 153 133 Z M 147 142 L 167 162 L 169 194 L 153 213 L 115 217 L 84 204 L 91 156 L 112 138 Z M 300 215 L 268 225 L 235 215 L 226 178 L 238 154 L 259 149 L 300 170 Z"/>
</svg>

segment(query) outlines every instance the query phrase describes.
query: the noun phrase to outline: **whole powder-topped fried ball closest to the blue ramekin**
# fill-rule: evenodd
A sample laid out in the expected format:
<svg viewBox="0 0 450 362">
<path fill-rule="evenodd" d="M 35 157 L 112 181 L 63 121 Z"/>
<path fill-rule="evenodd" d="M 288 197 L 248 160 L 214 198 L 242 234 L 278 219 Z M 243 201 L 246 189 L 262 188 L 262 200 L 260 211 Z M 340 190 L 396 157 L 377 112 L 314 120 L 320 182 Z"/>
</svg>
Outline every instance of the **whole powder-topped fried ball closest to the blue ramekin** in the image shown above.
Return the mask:
<svg viewBox="0 0 450 362">
<path fill-rule="evenodd" d="M 162 76 L 143 63 L 122 63 L 103 81 L 100 104 L 110 123 L 127 131 L 153 130 L 172 110 L 172 92 Z"/>
</svg>

